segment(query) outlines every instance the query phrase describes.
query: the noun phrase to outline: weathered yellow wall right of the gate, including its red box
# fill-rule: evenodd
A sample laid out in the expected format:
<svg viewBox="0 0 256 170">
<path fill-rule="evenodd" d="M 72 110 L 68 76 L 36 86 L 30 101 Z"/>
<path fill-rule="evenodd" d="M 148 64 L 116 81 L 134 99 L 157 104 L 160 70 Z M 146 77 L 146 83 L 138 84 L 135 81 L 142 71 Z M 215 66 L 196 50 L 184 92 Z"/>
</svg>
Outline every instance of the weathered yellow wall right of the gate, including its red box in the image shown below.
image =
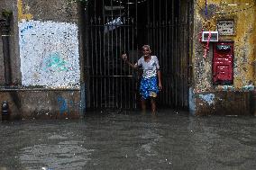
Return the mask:
<svg viewBox="0 0 256 170">
<path fill-rule="evenodd" d="M 255 114 L 255 1 L 197 1 L 194 21 L 195 113 Z"/>
</svg>

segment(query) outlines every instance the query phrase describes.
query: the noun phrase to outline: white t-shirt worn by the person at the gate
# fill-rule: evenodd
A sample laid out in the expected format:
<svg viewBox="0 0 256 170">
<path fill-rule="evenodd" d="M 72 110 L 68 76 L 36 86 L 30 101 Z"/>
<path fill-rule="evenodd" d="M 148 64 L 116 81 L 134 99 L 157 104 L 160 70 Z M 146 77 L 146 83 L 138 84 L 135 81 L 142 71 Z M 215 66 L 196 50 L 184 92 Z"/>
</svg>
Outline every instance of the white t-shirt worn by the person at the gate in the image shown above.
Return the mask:
<svg viewBox="0 0 256 170">
<path fill-rule="evenodd" d="M 156 56 L 151 56 L 151 60 L 146 62 L 144 57 L 140 58 L 135 64 L 138 67 L 142 66 L 144 78 L 157 76 L 157 70 L 160 69 L 159 59 Z"/>
</svg>

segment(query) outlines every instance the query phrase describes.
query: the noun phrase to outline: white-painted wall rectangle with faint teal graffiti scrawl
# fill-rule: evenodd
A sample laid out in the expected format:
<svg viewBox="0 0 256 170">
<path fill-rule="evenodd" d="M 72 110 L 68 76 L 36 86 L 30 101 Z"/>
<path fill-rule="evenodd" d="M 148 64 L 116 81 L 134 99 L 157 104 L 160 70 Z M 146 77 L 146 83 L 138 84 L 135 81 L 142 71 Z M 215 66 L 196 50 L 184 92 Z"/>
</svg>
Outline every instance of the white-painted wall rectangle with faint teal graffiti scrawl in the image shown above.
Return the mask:
<svg viewBox="0 0 256 170">
<path fill-rule="evenodd" d="M 79 85 L 78 26 L 68 22 L 19 22 L 23 85 Z"/>
</svg>

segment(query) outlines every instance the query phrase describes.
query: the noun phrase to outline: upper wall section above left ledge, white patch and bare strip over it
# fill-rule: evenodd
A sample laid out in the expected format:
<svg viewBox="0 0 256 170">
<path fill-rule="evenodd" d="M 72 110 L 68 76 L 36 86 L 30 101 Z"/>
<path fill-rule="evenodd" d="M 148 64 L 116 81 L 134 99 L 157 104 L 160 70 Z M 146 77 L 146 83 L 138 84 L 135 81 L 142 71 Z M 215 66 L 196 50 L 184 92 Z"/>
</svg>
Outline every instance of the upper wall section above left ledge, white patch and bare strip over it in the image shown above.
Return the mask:
<svg viewBox="0 0 256 170">
<path fill-rule="evenodd" d="M 23 85 L 79 85 L 76 7 L 66 0 L 18 0 Z"/>
</svg>

